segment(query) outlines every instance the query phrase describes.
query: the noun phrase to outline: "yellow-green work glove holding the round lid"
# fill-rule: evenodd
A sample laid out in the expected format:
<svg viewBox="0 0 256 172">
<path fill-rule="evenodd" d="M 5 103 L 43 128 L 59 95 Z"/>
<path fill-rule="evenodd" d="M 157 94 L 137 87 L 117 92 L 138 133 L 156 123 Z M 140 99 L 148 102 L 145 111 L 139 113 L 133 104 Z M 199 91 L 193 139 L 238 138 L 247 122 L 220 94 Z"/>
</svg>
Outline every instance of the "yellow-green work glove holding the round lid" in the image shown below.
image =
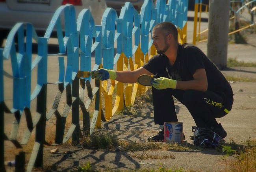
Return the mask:
<svg viewBox="0 0 256 172">
<path fill-rule="evenodd" d="M 158 90 L 167 89 L 167 88 L 176 89 L 176 85 L 177 85 L 176 80 L 172 80 L 164 77 L 155 78 L 154 80 L 151 81 L 151 83 L 152 83 L 152 86 Z"/>
</svg>

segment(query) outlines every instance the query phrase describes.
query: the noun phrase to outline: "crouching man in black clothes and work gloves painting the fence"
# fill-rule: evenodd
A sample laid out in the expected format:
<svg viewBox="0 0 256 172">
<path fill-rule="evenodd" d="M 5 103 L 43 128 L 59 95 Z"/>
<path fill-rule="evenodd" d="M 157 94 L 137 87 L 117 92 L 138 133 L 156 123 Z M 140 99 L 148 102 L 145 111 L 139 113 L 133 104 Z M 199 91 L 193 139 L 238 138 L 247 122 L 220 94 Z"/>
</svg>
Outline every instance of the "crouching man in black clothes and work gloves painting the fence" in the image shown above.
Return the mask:
<svg viewBox="0 0 256 172">
<path fill-rule="evenodd" d="M 177 122 L 173 96 L 191 113 L 197 127 L 209 128 L 222 138 L 227 133 L 215 118 L 224 117 L 233 104 L 230 84 L 215 64 L 192 44 L 179 44 L 178 32 L 171 22 L 157 24 L 152 31 L 157 55 L 134 71 L 99 69 L 92 71 L 98 80 L 135 83 L 142 74 L 154 75 L 152 97 L 154 122 Z M 164 129 L 149 141 L 163 141 Z"/>
</svg>

